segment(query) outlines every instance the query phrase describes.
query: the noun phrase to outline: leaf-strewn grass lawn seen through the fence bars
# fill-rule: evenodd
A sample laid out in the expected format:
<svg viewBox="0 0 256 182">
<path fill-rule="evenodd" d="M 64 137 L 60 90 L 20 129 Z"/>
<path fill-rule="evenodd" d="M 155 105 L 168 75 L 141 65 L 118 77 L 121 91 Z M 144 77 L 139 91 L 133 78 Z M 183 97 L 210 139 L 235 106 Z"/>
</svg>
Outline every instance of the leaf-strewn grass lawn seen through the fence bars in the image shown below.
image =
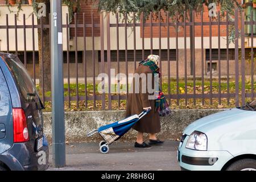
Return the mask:
<svg viewBox="0 0 256 182">
<path fill-rule="evenodd" d="M 112 85 L 114 90 L 117 90 L 117 85 Z M 96 95 L 100 96 L 101 93 L 97 91 L 98 85 L 96 85 L 95 93 Z M 170 82 L 170 94 L 176 94 L 176 80 L 172 80 Z M 37 85 L 37 88 L 39 89 L 39 85 Z M 130 88 L 130 85 L 129 85 Z M 240 81 L 240 94 L 241 94 L 241 81 Z M 256 88 L 256 82 L 253 84 L 253 89 Z M 79 96 L 85 96 L 85 84 L 79 84 L 78 87 L 76 84 L 70 84 L 70 96 L 76 96 L 77 94 L 77 89 Z M 88 96 L 93 96 L 94 90 L 93 90 L 93 84 L 88 84 L 86 86 L 87 89 L 87 95 Z M 184 80 L 179 81 L 179 94 L 185 94 L 185 82 Z M 196 89 L 196 94 L 201 94 L 202 93 L 202 82 L 200 80 L 196 80 L 195 84 L 195 89 Z M 126 91 L 126 85 L 121 85 L 121 95 L 125 95 Z M 218 93 L 219 90 L 219 85 L 217 80 L 212 81 L 212 93 Z M 163 82 L 162 83 L 162 91 L 163 93 L 167 96 L 168 95 L 168 83 Z M 251 93 L 251 82 L 246 81 L 245 84 L 245 91 L 246 93 Z M 193 94 L 194 92 L 194 86 L 193 86 L 193 81 L 188 80 L 187 81 L 187 93 L 188 94 Z M 227 93 L 227 84 L 225 80 L 221 81 L 221 93 Z M 231 80 L 229 82 L 229 93 L 235 93 L 236 92 L 236 84 L 234 80 Z M 205 81 L 204 82 L 204 93 L 209 94 L 210 93 L 210 82 Z M 118 93 L 113 93 L 112 95 L 117 95 Z M 51 97 L 51 92 L 46 92 L 45 97 Z M 68 84 L 64 84 L 64 96 L 68 96 Z M 41 96 L 42 97 L 42 96 Z M 105 97 L 106 100 L 106 110 L 108 110 L 108 95 L 106 94 Z M 250 98 L 246 98 L 246 102 L 251 101 Z M 187 105 L 185 104 L 185 99 L 180 99 L 179 100 L 179 105 L 177 105 L 177 100 L 171 99 L 171 105 L 170 107 L 172 109 L 208 109 L 208 108 L 230 108 L 235 106 L 235 100 L 234 98 L 230 98 L 229 100 L 229 105 L 228 105 L 228 100 L 227 98 L 221 98 L 221 105 L 219 105 L 218 98 L 213 98 L 213 104 L 210 105 L 210 100 L 205 99 L 205 104 L 202 104 L 201 99 L 196 99 L 196 105 L 193 103 L 193 99 L 188 99 Z M 241 102 L 241 98 L 240 98 Z M 94 108 L 94 103 L 93 101 L 88 101 L 87 102 L 87 107 L 85 107 L 85 101 L 79 101 L 79 108 L 77 108 L 77 103 L 76 101 L 71 101 L 70 105 L 68 101 L 65 101 L 65 111 L 73 111 L 73 110 L 102 110 L 101 106 L 101 101 L 96 101 L 95 103 L 96 107 Z M 51 111 L 51 102 L 45 102 L 46 110 L 45 111 Z M 121 100 L 120 103 L 118 101 L 112 101 L 112 109 L 113 110 L 124 110 L 126 107 L 126 100 Z"/>
</svg>

